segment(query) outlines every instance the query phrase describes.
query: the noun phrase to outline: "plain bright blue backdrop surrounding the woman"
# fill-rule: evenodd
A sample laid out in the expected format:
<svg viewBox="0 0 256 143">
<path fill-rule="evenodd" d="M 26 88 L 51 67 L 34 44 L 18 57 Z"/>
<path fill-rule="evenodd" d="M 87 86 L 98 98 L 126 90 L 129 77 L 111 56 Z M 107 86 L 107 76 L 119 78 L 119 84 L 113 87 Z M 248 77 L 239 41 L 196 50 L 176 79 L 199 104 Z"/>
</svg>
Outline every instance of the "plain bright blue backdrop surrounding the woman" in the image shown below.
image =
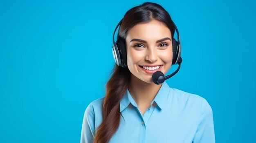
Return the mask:
<svg viewBox="0 0 256 143">
<path fill-rule="evenodd" d="M 85 108 L 104 96 L 114 66 L 115 26 L 143 2 L 1 0 L 0 142 L 79 142 Z M 169 86 L 207 99 L 217 143 L 255 143 L 255 1 L 151 2 L 181 36 Z"/>
</svg>

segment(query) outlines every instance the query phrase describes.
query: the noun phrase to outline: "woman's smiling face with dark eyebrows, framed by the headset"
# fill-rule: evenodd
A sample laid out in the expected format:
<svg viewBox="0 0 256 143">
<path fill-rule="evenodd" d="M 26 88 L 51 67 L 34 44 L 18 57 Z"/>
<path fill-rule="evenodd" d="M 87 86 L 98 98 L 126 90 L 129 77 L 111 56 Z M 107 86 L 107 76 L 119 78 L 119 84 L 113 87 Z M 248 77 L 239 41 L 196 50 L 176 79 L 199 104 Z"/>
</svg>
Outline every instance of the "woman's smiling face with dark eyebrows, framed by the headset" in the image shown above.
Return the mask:
<svg viewBox="0 0 256 143">
<path fill-rule="evenodd" d="M 153 73 L 162 71 L 166 74 L 171 67 L 171 31 L 158 20 L 137 24 L 127 32 L 126 51 L 132 76 L 153 83 Z"/>
</svg>

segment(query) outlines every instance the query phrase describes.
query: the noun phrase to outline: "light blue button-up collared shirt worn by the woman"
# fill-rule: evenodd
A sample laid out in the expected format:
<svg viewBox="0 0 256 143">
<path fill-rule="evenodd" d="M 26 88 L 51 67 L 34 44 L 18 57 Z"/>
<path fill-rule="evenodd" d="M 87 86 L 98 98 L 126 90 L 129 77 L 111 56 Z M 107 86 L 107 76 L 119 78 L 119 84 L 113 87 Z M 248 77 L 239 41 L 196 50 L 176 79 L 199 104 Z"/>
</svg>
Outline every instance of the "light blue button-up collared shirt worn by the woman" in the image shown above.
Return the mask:
<svg viewBox="0 0 256 143">
<path fill-rule="evenodd" d="M 103 100 L 86 108 L 81 143 L 92 143 L 102 122 Z M 109 143 L 215 143 L 212 108 L 203 97 L 164 82 L 150 105 L 142 115 L 127 90 L 120 101 L 124 118 Z"/>
</svg>

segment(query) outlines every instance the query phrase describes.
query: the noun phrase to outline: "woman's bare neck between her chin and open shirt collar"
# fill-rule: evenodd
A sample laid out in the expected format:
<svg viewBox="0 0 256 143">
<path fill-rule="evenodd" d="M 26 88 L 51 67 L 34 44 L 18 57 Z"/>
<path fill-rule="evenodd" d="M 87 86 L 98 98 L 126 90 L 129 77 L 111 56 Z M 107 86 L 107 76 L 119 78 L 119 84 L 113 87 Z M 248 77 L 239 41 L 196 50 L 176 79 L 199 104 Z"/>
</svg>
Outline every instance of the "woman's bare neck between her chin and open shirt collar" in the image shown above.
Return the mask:
<svg viewBox="0 0 256 143">
<path fill-rule="evenodd" d="M 131 75 L 129 92 L 139 107 L 150 106 L 162 84 L 149 84 Z"/>
</svg>

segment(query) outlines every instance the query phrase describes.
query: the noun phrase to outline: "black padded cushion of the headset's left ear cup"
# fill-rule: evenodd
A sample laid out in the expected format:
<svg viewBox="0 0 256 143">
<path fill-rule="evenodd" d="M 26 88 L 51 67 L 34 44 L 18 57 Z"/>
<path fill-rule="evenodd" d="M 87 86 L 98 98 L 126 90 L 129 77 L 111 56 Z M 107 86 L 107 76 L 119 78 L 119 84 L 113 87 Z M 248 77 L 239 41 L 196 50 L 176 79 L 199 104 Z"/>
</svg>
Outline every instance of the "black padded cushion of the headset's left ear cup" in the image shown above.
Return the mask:
<svg viewBox="0 0 256 143">
<path fill-rule="evenodd" d="M 127 67 L 127 55 L 126 55 L 126 44 L 123 38 L 117 37 L 117 47 L 120 51 L 120 57 L 121 57 L 121 66 L 123 68 Z"/>
</svg>

